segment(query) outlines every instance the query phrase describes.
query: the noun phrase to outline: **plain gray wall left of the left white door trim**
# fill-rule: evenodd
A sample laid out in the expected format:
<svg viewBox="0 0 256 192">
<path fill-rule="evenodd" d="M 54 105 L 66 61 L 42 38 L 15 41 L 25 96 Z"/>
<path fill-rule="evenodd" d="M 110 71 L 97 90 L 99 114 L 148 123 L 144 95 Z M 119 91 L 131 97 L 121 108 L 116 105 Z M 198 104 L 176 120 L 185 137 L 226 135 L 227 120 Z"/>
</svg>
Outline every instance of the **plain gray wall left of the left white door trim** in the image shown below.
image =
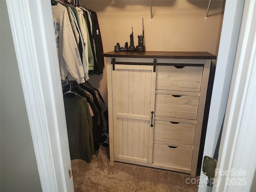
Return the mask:
<svg viewBox="0 0 256 192">
<path fill-rule="evenodd" d="M 42 191 L 6 2 L 0 0 L 1 192 Z"/>
</svg>

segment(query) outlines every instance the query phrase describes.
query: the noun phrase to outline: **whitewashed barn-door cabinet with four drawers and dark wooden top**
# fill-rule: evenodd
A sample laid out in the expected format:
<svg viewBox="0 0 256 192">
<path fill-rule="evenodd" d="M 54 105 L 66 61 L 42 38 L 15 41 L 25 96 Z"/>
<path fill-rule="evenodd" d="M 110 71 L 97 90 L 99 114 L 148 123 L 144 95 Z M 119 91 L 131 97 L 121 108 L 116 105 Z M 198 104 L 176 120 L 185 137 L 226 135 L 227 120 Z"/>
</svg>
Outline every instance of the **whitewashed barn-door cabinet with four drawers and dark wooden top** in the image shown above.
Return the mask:
<svg viewBox="0 0 256 192">
<path fill-rule="evenodd" d="M 208 52 L 105 53 L 110 161 L 196 175 Z"/>
</svg>

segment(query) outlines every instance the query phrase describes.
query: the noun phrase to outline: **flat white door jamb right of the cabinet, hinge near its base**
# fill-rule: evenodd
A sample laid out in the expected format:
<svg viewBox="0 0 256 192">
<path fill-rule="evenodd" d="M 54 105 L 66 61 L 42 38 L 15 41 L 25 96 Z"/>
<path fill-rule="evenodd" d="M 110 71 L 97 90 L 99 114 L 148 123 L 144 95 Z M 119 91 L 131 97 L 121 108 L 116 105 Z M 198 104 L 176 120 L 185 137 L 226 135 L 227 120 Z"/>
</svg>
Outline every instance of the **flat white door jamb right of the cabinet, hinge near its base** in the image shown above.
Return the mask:
<svg viewBox="0 0 256 192">
<path fill-rule="evenodd" d="M 224 120 L 243 7 L 244 0 L 226 0 L 202 162 L 204 156 L 213 157 Z M 212 190 L 207 182 L 201 168 L 198 192 Z"/>
</svg>

